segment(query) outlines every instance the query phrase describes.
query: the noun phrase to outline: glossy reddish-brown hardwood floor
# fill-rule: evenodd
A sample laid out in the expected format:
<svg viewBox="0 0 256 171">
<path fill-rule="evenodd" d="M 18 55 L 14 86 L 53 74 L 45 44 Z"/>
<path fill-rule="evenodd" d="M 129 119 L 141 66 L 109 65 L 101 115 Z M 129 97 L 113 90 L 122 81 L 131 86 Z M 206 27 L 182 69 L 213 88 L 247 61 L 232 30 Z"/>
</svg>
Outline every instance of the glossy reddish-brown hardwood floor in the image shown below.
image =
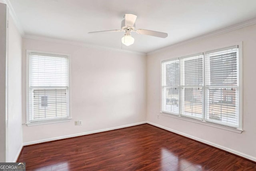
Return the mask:
<svg viewBox="0 0 256 171">
<path fill-rule="evenodd" d="M 30 171 L 256 171 L 256 163 L 149 124 L 24 147 Z"/>
</svg>

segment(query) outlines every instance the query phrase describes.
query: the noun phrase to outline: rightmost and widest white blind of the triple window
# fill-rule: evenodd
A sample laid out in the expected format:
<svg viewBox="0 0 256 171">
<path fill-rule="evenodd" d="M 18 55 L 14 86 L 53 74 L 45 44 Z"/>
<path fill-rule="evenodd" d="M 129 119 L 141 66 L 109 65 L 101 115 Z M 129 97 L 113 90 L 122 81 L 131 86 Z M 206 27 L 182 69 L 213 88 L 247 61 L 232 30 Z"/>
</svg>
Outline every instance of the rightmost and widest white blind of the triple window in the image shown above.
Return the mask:
<svg viewBox="0 0 256 171">
<path fill-rule="evenodd" d="M 206 120 L 238 127 L 238 47 L 206 52 Z"/>
</svg>

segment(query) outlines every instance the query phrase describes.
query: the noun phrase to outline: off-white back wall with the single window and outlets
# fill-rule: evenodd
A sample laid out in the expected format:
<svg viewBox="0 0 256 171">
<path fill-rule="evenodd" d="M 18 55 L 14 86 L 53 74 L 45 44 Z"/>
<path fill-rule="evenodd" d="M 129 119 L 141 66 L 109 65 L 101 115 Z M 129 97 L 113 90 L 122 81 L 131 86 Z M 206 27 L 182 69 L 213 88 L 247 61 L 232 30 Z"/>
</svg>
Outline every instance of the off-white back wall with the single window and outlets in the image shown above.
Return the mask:
<svg viewBox="0 0 256 171">
<path fill-rule="evenodd" d="M 146 120 L 146 56 L 23 38 L 22 106 L 26 122 L 26 50 L 70 54 L 70 122 L 23 125 L 23 142 L 108 129 Z M 74 121 L 82 120 L 82 126 Z"/>
</svg>

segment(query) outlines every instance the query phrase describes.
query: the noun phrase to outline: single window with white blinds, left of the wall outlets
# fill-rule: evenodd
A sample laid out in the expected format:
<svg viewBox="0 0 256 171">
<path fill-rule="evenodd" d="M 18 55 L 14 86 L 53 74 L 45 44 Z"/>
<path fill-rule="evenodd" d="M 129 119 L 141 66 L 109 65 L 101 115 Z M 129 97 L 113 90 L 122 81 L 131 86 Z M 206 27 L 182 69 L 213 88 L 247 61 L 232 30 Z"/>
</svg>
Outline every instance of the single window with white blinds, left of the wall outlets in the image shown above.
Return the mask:
<svg viewBox="0 0 256 171">
<path fill-rule="evenodd" d="M 29 122 L 68 118 L 68 56 L 29 54 Z"/>
</svg>

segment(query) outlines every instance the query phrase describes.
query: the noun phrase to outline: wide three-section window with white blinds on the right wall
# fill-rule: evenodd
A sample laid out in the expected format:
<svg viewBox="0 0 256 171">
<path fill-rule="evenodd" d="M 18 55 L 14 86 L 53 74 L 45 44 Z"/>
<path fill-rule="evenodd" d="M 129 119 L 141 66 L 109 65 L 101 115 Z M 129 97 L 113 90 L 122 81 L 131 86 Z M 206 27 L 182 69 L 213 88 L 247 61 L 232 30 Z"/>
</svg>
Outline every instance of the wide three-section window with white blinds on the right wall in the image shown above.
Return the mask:
<svg viewBox="0 0 256 171">
<path fill-rule="evenodd" d="M 238 46 L 163 61 L 162 112 L 239 128 L 238 78 Z"/>
</svg>

